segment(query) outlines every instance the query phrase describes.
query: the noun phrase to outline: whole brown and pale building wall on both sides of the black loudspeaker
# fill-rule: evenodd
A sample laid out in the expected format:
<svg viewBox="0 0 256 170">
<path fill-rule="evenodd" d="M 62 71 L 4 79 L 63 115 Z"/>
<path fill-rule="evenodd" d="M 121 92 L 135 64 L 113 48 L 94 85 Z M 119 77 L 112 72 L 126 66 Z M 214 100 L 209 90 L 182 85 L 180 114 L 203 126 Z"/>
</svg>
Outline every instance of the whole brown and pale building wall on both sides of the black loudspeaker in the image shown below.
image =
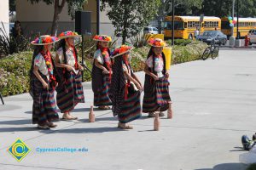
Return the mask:
<svg viewBox="0 0 256 170">
<path fill-rule="evenodd" d="M 2 0 L 1 0 L 2 1 Z M 88 0 L 84 4 L 85 11 L 91 11 L 91 31 L 96 34 L 96 0 Z M 20 20 L 26 35 L 49 34 L 54 15 L 54 5 L 39 2 L 31 4 L 27 0 L 16 1 L 17 20 Z M 106 11 L 100 13 L 101 34 L 113 35 L 113 26 L 108 20 Z M 74 20 L 68 15 L 67 3 L 60 14 L 58 33 L 61 31 L 74 31 Z"/>
</svg>

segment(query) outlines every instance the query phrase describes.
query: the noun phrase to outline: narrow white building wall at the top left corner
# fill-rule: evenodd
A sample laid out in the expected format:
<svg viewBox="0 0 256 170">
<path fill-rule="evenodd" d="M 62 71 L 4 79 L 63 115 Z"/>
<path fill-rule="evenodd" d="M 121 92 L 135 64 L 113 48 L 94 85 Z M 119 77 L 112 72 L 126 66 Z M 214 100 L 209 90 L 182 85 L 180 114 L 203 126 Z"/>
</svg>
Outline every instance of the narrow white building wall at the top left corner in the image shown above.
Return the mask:
<svg viewBox="0 0 256 170">
<path fill-rule="evenodd" d="M 9 36 L 9 0 L 0 1 L 0 28 L 4 29 Z M 2 26 L 3 22 L 3 26 Z"/>
</svg>

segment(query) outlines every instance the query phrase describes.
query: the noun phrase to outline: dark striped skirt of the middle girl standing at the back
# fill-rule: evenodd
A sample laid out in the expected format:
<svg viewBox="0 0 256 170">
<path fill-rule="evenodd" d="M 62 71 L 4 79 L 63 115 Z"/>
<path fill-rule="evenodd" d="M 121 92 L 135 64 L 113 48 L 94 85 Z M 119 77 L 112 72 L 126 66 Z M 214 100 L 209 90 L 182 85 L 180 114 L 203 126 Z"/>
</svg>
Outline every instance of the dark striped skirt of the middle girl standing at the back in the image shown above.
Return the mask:
<svg viewBox="0 0 256 170">
<path fill-rule="evenodd" d="M 109 98 L 109 85 L 110 80 L 108 75 L 103 76 L 102 88 L 97 90 L 97 93 L 94 93 L 94 105 L 112 105 L 111 99 Z"/>
</svg>

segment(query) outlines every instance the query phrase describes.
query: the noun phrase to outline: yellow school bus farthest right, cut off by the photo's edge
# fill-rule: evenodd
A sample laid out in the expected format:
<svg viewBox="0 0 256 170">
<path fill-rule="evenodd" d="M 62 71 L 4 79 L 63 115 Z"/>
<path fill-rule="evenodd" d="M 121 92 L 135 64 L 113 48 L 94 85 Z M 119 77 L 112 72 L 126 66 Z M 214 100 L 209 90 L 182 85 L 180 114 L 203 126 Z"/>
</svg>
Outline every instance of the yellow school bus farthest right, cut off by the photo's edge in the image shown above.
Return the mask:
<svg viewBox="0 0 256 170">
<path fill-rule="evenodd" d="M 236 20 L 236 18 L 235 18 Z M 236 20 L 237 21 L 237 20 Z M 238 37 L 245 37 L 252 29 L 256 29 L 256 18 L 239 18 Z M 230 20 L 225 17 L 221 19 L 221 31 L 228 37 L 231 36 Z M 237 27 L 234 26 L 234 36 L 236 37 Z"/>
</svg>

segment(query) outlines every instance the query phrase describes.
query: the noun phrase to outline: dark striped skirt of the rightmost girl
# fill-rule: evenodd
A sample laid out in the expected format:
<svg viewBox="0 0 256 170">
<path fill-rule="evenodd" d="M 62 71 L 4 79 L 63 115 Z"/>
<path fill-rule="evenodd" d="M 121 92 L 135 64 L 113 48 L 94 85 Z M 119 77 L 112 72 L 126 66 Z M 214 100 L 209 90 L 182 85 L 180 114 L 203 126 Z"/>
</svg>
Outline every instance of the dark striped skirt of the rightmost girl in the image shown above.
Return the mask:
<svg viewBox="0 0 256 170">
<path fill-rule="evenodd" d="M 151 90 L 145 88 L 143 98 L 143 112 L 166 111 L 171 101 L 169 94 L 169 82 L 163 77 L 154 81 Z"/>
</svg>

